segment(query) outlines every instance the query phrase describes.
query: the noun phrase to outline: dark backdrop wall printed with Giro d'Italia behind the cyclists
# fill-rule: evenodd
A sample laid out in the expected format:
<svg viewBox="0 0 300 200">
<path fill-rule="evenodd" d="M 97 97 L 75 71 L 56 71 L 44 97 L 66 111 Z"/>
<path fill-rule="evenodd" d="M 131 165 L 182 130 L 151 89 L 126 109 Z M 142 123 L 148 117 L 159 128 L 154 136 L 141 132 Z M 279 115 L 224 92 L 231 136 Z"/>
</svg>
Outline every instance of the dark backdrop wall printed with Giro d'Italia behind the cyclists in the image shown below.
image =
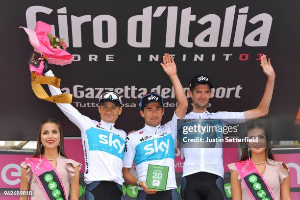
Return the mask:
<svg viewBox="0 0 300 200">
<path fill-rule="evenodd" d="M 27 61 L 33 49 L 18 26 L 34 29 L 37 21 L 52 25 L 74 55 L 72 64 L 51 69 L 61 78 L 63 93 L 73 94 L 72 105 L 91 119 L 100 120 L 100 94 L 115 91 L 124 103 L 116 127 L 140 129 L 139 99 L 157 92 L 166 107 L 163 123 L 169 121 L 176 100 L 159 64 L 165 52 L 174 55 L 186 94 L 194 75 L 211 78 L 209 111 L 252 109 L 264 93 L 267 77 L 259 63 L 266 54 L 276 73 L 267 117 L 298 124 L 299 7 L 296 0 L 7 1 L 0 14 L 0 140 L 36 140 L 47 117 L 61 121 L 65 136 L 80 136 L 54 103 L 38 99 L 31 89 Z"/>
</svg>

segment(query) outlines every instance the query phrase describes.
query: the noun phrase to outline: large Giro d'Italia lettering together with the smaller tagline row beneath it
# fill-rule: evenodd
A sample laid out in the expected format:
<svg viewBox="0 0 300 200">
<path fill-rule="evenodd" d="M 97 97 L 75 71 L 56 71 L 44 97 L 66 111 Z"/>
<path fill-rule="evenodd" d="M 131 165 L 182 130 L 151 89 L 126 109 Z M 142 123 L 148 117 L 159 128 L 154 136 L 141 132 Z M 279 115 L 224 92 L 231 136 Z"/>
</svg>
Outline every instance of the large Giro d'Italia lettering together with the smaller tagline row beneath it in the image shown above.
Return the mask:
<svg viewBox="0 0 300 200">
<path fill-rule="evenodd" d="M 50 16 L 57 15 L 57 21 L 55 22 L 57 26 L 52 25 L 52 33 L 59 35 L 60 38 L 64 38 L 66 44 L 71 48 L 82 48 L 84 46 L 82 33 L 85 31 L 93 34 L 90 43 L 94 44 L 95 47 L 107 49 L 114 47 L 117 41 L 120 42 L 120 39 L 117 38 L 117 22 L 124 22 L 124 18 L 121 18 L 121 16 L 121 19 L 119 16 L 112 16 L 109 13 L 105 13 L 105 15 L 102 13 L 87 13 L 87 15 L 78 16 L 76 12 L 67 12 L 67 10 L 67 7 L 62 7 L 55 12 L 51 7 L 30 6 L 25 12 L 27 27 L 34 29 L 36 21 L 40 20 L 37 17 L 37 13 Z M 157 31 L 151 28 L 154 23 L 160 23 L 162 27 L 166 27 L 166 31 L 159 31 L 158 33 L 165 40 L 162 42 L 165 48 L 175 48 L 177 44 L 182 48 L 267 46 L 273 22 L 273 17 L 270 14 L 252 14 L 253 7 L 239 7 L 236 5 L 224 7 L 224 12 L 219 15 L 211 13 L 203 16 L 199 12 L 197 13 L 198 10 L 196 5 L 183 8 L 178 6 L 149 6 L 132 10 L 132 15 L 125 19 L 127 29 L 122 30 L 118 28 L 118 31 L 127 31 L 127 44 L 134 48 L 151 48 L 154 32 Z M 154 20 L 157 18 L 160 20 Z M 70 21 L 71 26 L 68 26 Z M 102 28 L 103 22 L 107 26 L 107 31 Z M 140 26 L 140 23 L 142 26 Z M 258 25 L 256 25 L 257 23 Z M 92 28 L 89 30 L 82 29 L 82 24 L 91 24 Z M 205 26 L 206 29 L 199 31 L 206 24 L 210 26 Z M 162 29 L 164 28 L 159 30 Z M 199 33 L 196 36 L 191 36 L 191 32 Z M 72 37 L 72 43 L 69 40 L 69 36 L 70 38 Z M 230 58 L 247 61 L 249 59 L 260 60 L 261 55 L 261 52 L 253 54 L 241 52 L 233 55 L 232 53 L 220 53 L 219 51 L 218 53 L 204 55 L 197 54 L 196 51 L 195 53 L 191 52 L 174 56 L 176 56 L 176 60 L 181 61 L 215 61 L 216 59 L 228 61 Z M 89 62 L 97 62 L 103 59 L 106 62 L 111 62 L 118 59 L 118 56 L 115 57 L 114 54 L 106 54 L 105 57 L 99 57 L 96 53 L 88 55 L 74 54 L 74 56 L 74 61 L 88 60 Z M 132 57 L 138 62 L 142 60 L 159 60 L 159 55 L 156 53 L 148 55 L 137 54 Z"/>
</svg>

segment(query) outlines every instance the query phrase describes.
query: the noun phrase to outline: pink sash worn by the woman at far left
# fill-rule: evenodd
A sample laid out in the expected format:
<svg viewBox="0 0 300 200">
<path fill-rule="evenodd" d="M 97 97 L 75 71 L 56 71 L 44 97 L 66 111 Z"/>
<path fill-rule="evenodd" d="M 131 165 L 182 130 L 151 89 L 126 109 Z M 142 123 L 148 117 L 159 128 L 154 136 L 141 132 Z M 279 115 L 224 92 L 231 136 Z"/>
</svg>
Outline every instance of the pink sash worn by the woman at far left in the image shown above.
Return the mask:
<svg viewBox="0 0 300 200">
<path fill-rule="evenodd" d="M 47 158 L 33 157 L 24 163 L 30 166 L 47 200 L 68 200 L 60 175 Z"/>
</svg>

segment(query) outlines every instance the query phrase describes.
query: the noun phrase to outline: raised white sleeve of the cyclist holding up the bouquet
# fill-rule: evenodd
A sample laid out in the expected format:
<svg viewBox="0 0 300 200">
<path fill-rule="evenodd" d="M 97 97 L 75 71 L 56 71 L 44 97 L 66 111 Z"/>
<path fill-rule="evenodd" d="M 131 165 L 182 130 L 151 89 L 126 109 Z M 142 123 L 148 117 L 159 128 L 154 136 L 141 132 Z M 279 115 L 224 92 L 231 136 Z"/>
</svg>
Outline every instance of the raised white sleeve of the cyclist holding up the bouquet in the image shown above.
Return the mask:
<svg viewBox="0 0 300 200">
<path fill-rule="evenodd" d="M 54 76 L 51 70 L 45 73 L 45 76 Z M 62 92 L 59 88 L 56 88 L 52 85 L 49 85 L 50 93 L 52 96 L 61 95 Z M 86 125 L 89 124 L 92 120 L 84 115 L 82 115 L 75 107 L 70 103 L 56 103 L 59 109 L 73 122 L 80 130 L 85 130 Z"/>
</svg>

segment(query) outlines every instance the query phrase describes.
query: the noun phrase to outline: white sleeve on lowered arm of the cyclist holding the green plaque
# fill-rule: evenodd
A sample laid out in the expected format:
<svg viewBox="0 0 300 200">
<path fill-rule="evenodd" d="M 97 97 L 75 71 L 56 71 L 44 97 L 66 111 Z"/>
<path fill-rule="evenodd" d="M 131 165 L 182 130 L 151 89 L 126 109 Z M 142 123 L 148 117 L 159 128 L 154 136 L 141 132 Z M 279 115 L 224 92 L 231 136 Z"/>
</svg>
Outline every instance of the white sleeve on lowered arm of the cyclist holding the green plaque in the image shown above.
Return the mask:
<svg viewBox="0 0 300 200">
<path fill-rule="evenodd" d="M 132 163 L 135 157 L 135 138 L 133 133 L 127 136 L 125 141 L 125 152 L 124 152 L 124 159 L 123 159 L 123 167 L 131 168 Z"/>
</svg>

